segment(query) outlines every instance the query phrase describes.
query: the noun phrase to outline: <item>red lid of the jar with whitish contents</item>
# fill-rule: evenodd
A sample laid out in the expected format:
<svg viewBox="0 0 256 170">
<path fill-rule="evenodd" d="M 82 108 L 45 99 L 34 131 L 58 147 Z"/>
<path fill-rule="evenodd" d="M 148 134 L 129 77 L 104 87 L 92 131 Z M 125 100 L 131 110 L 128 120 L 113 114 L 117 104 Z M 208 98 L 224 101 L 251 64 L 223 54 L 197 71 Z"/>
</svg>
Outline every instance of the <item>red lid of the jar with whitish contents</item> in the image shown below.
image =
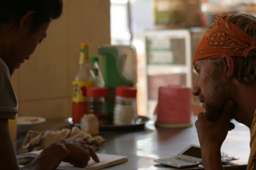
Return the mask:
<svg viewBox="0 0 256 170">
<path fill-rule="evenodd" d="M 137 89 L 129 86 L 116 86 L 116 95 L 120 97 L 134 98 L 136 97 Z"/>
</svg>

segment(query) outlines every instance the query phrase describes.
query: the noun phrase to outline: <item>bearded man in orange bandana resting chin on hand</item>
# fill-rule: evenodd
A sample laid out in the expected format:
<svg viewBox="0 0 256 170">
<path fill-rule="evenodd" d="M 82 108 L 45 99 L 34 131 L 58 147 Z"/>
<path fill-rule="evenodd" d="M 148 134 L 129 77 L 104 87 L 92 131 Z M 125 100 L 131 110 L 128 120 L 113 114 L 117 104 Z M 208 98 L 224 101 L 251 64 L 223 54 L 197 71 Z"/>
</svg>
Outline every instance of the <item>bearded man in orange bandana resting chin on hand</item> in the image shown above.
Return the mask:
<svg viewBox="0 0 256 170">
<path fill-rule="evenodd" d="M 235 119 L 250 128 L 247 170 L 256 169 L 256 18 L 216 16 L 196 48 L 194 69 L 193 94 L 205 109 L 196 121 L 204 168 L 223 169 L 220 148 Z"/>
</svg>

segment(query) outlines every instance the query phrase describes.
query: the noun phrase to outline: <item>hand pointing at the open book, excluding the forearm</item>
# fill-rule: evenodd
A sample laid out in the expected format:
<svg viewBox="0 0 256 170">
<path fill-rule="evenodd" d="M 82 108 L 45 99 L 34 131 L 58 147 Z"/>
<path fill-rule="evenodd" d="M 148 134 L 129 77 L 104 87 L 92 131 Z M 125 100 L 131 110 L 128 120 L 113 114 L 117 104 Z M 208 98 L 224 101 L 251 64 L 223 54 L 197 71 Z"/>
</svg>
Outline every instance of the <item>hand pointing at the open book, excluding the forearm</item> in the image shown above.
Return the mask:
<svg viewBox="0 0 256 170">
<path fill-rule="evenodd" d="M 76 167 L 84 168 L 88 165 L 90 157 L 95 162 L 100 162 L 93 149 L 80 138 L 67 138 L 48 146 L 49 149 L 61 146 L 64 148 L 62 161 L 70 162 Z"/>
</svg>

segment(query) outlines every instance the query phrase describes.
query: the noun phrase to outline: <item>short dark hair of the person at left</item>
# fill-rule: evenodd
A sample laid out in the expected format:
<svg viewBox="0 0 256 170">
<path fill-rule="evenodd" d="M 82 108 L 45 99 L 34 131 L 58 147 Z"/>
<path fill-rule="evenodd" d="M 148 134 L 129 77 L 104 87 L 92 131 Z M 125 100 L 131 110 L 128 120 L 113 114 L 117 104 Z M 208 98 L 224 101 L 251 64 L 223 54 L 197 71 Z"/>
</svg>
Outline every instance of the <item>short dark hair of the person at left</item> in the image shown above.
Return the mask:
<svg viewBox="0 0 256 170">
<path fill-rule="evenodd" d="M 35 11 L 32 32 L 62 14 L 62 0 L 0 0 L 0 25 L 18 21 L 28 11 Z"/>
</svg>

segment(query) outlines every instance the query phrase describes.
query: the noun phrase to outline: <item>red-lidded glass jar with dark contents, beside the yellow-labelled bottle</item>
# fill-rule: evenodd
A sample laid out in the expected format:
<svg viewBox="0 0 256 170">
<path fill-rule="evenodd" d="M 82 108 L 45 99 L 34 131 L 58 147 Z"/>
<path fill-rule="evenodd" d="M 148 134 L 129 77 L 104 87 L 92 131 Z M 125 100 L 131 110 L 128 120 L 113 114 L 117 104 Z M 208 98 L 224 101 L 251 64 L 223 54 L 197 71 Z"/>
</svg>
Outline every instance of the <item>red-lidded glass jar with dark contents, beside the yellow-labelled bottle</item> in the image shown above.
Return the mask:
<svg viewBox="0 0 256 170">
<path fill-rule="evenodd" d="M 108 125 L 108 113 L 106 108 L 106 99 L 108 88 L 91 87 L 87 88 L 87 113 L 94 114 L 101 125 Z"/>
</svg>

